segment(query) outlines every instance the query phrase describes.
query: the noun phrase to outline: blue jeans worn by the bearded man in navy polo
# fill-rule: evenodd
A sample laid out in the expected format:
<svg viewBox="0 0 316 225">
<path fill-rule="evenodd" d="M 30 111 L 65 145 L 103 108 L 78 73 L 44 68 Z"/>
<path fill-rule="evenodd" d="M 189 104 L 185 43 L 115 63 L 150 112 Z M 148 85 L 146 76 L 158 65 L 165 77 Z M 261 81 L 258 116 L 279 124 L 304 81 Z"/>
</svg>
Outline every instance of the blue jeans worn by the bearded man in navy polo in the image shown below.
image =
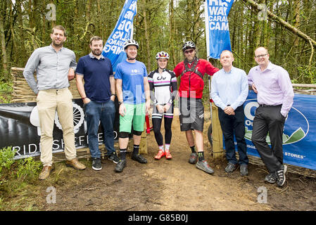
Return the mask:
<svg viewBox="0 0 316 225">
<path fill-rule="evenodd" d="M 106 103 L 97 103 L 90 101 L 84 105 L 85 115 L 87 120 L 88 141 L 89 149 L 92 158 L 101 158 L 99 149 L 98 130 L 99 122 L 104 131 L 104 144 L 108 155 L 115 152 L 114 149 L 114 133 L 113 125 L 115 120 L 115 105 L 114 102 L 109 100 Z"/>
</svg>

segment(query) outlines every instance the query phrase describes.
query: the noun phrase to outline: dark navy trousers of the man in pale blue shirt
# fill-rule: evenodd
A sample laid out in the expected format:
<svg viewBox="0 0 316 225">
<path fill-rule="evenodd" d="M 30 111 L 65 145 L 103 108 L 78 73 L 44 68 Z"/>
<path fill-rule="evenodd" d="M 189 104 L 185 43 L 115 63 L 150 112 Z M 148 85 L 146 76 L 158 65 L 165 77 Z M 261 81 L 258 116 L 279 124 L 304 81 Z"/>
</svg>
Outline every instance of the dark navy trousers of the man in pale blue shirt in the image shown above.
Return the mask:
<svg viewBox="0 0 316 225">
<path fill-rule="evenodd" d="M 245 141 L 245 114 L 244 106 L 241 105 L 234 110 L 235 115 L 227 115 L 221 108 L 218 108 L 220 127 L 224 135 L 226 158 L 228 162 L 237 164 L 234 135 L 237 142 L 239 154 L 239 165 L 248 165 L 247 148 Z"/>
</svg>

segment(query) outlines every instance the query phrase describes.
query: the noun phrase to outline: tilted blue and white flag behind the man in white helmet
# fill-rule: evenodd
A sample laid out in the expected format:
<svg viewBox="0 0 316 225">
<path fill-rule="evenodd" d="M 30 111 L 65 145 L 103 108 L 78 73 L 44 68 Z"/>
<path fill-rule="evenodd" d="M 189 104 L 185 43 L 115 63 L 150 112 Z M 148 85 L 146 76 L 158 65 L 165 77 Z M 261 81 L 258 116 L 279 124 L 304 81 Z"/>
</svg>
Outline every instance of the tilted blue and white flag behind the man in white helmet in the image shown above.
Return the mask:
<svg viewBox="0 0 316 225">
<path fill-rule="evenodd" d="M 113 72 L 115 72 L 118 63 L 126 60 L 123 46 L 127 39 L 133 38 L 133 19 L 136 13 L 137 0 L 126 0 L 120 18 L 118 18 L 113 32 L 104 45 L 102 55 L 110 59 Z"/>
</svg>

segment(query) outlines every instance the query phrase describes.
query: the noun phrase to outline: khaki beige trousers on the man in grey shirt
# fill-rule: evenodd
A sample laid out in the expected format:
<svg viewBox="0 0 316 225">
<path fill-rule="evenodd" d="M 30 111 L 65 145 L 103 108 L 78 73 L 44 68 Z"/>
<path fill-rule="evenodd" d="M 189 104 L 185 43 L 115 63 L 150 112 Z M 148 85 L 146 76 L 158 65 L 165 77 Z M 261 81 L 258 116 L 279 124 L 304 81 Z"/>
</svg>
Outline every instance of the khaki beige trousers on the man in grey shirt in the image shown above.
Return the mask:
<svg viewBox="0 0 316 225">
<path fill-rule="evenodd" d="M 75 132 L 73 129 L 72 94 L 68 88 L 39 91 L 37 95 L 39 124 L 41 127 L 41 161 L 43 166 L 53 163 L 53 124 L 57 110 L 59 122 L 63 128 L 65 158 L 76 158 Z"/>
</svg>

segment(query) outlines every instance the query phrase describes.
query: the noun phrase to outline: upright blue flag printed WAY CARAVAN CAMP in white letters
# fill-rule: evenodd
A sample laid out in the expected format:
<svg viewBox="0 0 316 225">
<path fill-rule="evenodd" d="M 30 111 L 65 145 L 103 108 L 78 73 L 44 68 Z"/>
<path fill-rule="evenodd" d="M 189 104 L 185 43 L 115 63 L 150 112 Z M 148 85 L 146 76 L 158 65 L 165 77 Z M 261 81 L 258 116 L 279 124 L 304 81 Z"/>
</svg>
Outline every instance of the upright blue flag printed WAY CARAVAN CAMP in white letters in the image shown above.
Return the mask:
<svg viewBox="0 0 316 225">
<path fill-rule="evenodd" d="M 227 15 L 234 0 L 206 0 L 206 48 L 209 58 L 220 58 L 224 50 L 232 51 Z"/>
</svg>

